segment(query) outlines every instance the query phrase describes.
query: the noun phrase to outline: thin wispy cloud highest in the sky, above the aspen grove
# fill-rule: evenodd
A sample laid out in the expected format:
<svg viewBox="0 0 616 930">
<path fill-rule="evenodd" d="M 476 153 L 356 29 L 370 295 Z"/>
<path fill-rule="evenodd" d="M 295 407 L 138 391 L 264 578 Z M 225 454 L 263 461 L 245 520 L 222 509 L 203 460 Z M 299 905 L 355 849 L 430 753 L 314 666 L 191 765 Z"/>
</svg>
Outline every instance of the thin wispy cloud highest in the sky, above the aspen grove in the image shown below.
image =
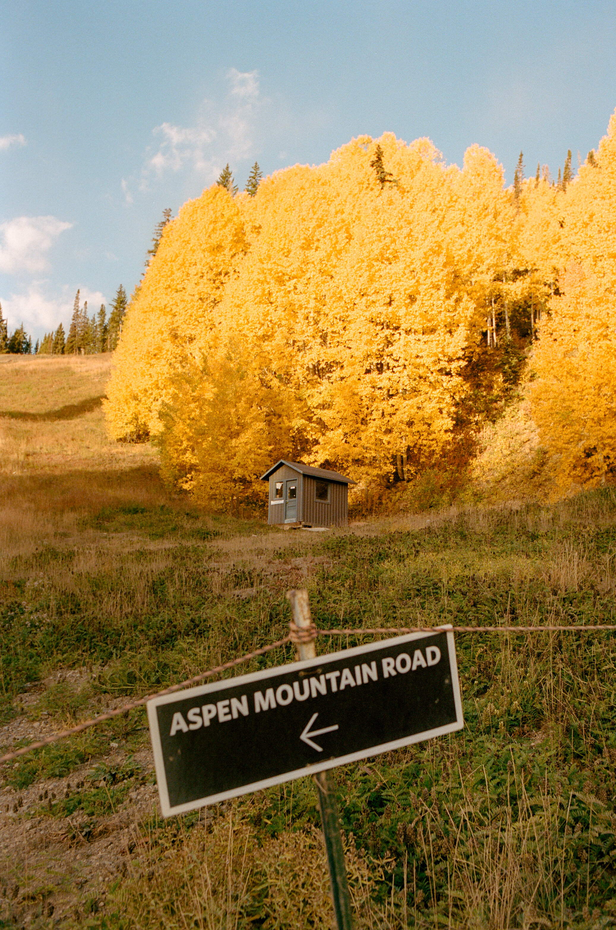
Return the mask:
<svg viewBox="0 0 616 930">
<path fill-rule="evenodd" d="M 149 153 L 139 189 L 148 190 L 152 178 L 164 172 L 190 169 L 207 183 L 216 180 L 226 162 L 248 158 L 255 151 L 261 113 L 269 100 L 260 94 L 258 72 L 230 68 L 225 74 L 227 90 L 218 104 L 204 100 L 194 126 L 163 123 L 152 130 L 160 139 L 158 149 Z M 132 203 L 128 183 L 122 182 L 125 198 Z"/>
</svg>

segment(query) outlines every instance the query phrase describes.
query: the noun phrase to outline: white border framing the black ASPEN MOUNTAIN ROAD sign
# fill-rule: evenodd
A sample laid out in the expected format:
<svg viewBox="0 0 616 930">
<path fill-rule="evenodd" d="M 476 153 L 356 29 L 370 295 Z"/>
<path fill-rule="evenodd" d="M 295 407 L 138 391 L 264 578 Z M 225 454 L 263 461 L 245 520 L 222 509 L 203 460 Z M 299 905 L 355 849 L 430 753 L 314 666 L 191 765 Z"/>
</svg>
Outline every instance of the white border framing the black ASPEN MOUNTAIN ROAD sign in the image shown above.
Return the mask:
<svg viewBox="0 0 616 930">
<path fill-rule="evenodd" d="M 219 794 L 209 794 L 205 798 L 199 798 L 196 801 L 190 801 L 187 804 L 177 804 L 172 807 L 169 803 L 169 792 L 166 783 L 166 774 L 164 771 L 163 747 L 161 735 L 158 728 L 158 715 L 156 708 L 162 704 L 169 704 L 172 701 L 184 700 L 187 697 L 197 697 L 205 694 L 211 694 L 214 691 L 221 691 L 225 688 L 235 687 L 238 684 L 249 684 L 260 681 L 263 678 L 273 678 L 276 675 L 284 675 L 289 672 L 301 669 L 309 669 L 315 665 L 321 665 L 324 661 L 332 661 L 357 655 L 365 655 L 367 652 L 373 652 L 377 649 L 387 648 L 388 645 L 400 645 L 402 643 L 413 643 L 417 639 L 426 639 L 435 633 L 447 633 L 447 646 L 449 652 L 450 671 L 452 674 L 453 701 L 455 705 L 455 722 L 438 726 L 432 730 L 423 730 L 421 733 L 415 733 L 411 737 L 402 737 L 395 739 L 390 743 L 382 743 L 380 746 L 372 746 L 368 750 L 351 752 L 346 756 L 336 756 L 335 759 L 324 760 L 322 763 L 307 765 L 304 768 L 295 769 L 293 772 L 284 772 L 271 778 L 264 778 L 262 781 L 253 781 L 249 785 L 242 785 L 241 788 L 233 788 L 229 791 L 221 791 Z M 422 742 L 424 739 L 441 737 L 446 733 L 454 733 L 456 730 L 463 729 L 465 722 L 462 712 L 462 697 L 460 696 L 460 681 L 458 678 L 458 664 L 455 656 L 455 641 L 453 628 L 451 624 L 442 627 L 433 627 L 429 631 L 421 630 L 415 633 L 408 633 L 405 636 L 396 636 L 392 639 L 381 640 L 377 643 L 368 643 L 366 645 L 353 646 L 350 649 L 342 649 L 339 652 L 325 653 L 317 658 L 308 658 L 303 662 L 288 662 L 286 665 L 277 665 L 271 669 L 263 671 L 253 671 L 247 675 L 239 675 L 237 678 L 225 678 L 219 682 L 211 684 L 197 684 L 195 687 L 187 688 L 185 691 L 176 691 L 174 694 L 163 695 L 162 697 L 152 697 L 148 701 L 148 721 L 150 724 L 150 737 L 152 750 L 154 752 L 154 768 L 156 770 L 156 782 L 161 802 L 161 811 L 163 817 L 175 817 L 177 814 L 186 814 L 189 811 L 199 810 L 207 804 L 217 804 L 220 801 L 227 801 L 229 798 L 241 797 L 242 794 L 250 794 L 252 791 L 259 791 L 264 788 L 272 788 L 274 785 L 282 785 L 285 781 L 292 781 L 294 778 L 301 778 L 308 775 L 315 775 L 317 772 L 324 772 L 329 768 L 335 768 L 337 765 L 345 765 L 349 762 L 360 762 L 361 759 L 369 759 L 371 756 L 380 755 L 382 752 L 400 749 L 402 746 L 411 746 L 413 743 Z"/>
</svg>

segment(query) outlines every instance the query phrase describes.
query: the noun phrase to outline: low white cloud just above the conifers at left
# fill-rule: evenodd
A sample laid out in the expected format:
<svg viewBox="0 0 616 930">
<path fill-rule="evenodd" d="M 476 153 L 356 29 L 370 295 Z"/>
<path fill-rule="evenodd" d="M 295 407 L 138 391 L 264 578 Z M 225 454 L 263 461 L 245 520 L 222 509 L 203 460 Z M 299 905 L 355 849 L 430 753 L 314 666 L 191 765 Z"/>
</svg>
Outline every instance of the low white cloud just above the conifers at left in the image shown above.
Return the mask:
<svg viewBox="0 0 616 930">
<path fill-rule="evenodd" d="M 71 290 L 68 286 L 62 288 L 60 297 L 47 297 L 44 289 L 45 282 L 35 281 L 25 292 L 21 294 L 11 294 L 8 299 L 2 301 L 2 315 L 8 321 L 9 330 L 15 329 L 21 323 L 28 332 L 34 334 L 50 332 L 56 329 L 59 323 L 64 326 L 65 332 L 68 333 L 68 326 L 71 322 L 72 307 L 74 303 L 74 292 L 71 296 Z M 76 291 L 75 287 L 75 291 Z M 106 303 L 104 295 L 100 291 L 91 291 L 87 287 L 82 287 L 80 292 L 80 306 L 84 306 L 87 300 L 87 313 L 98 313 L 101 303 Z M 34 339 L 36 339 L 34 335 Z"/>
</svg>

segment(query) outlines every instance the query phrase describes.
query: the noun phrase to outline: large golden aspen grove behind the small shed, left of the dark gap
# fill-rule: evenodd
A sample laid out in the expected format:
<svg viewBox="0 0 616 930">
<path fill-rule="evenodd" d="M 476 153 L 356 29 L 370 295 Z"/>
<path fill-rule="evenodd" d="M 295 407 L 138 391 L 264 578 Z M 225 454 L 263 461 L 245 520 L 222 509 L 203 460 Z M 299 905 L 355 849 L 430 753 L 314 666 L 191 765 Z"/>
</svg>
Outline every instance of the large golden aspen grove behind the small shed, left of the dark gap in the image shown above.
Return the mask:
<svg viewBox="0 0 616 930">
<path fill-rule="evenodd" d="M 392 134 L 276 172 L 254 197 L 204 192 L 132 301 L 111 433 L 158 436 L 167 480 L 216 506 L 259 498 L 273 458 L 364 485 L 412 478 L 452 441 L 524 196 L 513 205 L 485 149 L 459 169 Z"/>
</svg>

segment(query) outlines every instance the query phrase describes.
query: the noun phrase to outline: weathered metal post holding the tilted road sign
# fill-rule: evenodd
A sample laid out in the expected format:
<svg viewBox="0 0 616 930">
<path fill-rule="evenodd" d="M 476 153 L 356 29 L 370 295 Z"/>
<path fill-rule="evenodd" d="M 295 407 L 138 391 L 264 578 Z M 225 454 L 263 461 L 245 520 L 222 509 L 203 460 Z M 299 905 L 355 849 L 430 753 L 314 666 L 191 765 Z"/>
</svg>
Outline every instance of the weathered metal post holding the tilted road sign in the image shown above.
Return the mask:
<svg viewBox="0 0 616 930">
<path fill-rule="evenodd" d="M 308 604 L 308 591 L 289 591 L 287 598 L 291 604 L 295 631 L 297 654 L 302 659 L 317 658 L 314 646 L 314 627 Z M 304 636 L 302 637 L 302 633 Z M 304 642 L 302 642 L 304 639 Z M 316 735 L 316 734 L 315 734 Z M 334 902 L 335 920 L 338 930 L 351 930 L 351 903 L 348 895 L 347 867 L 342 836 L 338 824 L 338 812 L 335 804 L 334 778 L 329 771 L 314 776 L 319 790 L 319 807 L 323 838 L 327 850 L 327 865 L 330 870 L 330 885 Z"/>
</svg>

